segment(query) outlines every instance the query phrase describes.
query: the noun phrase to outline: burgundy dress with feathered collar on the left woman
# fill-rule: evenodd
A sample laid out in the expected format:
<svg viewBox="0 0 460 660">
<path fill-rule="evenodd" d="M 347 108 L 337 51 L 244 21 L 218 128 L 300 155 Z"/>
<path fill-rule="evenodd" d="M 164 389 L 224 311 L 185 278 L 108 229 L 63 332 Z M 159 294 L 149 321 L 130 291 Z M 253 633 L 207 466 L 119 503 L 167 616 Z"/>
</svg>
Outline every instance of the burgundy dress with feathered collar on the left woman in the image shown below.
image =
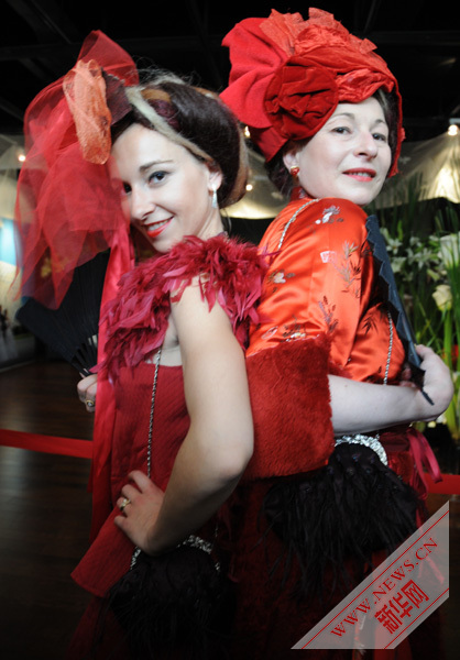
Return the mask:
<svg viewBox="0 0 460 660">
<path fill-rule="evenodd" d="M 187 238 L 166 255 L 127 274 L 119 295 L 106 310 L 109 319 L 107 358 L 102 374 L 113 382 L 114 424 L 110 448 L 110 499 L 114 506 L 128 474 L 146 472 L 149 421 L 155 367 L 145 356 L 162 344 L 169 316 L 171 296 L 177 299 L 199 276 L 202 297 L 227 311 L 237 339 L 247 342 L 249 319 L 256 318 L 254 302 L 261 293 L 265 262 L 255 246 L 224 237 L 209 241 Z M 173 464 L 189 428 L 182 366 L 160 366 L 152 437 L 152 480 L 165 490 Z M 129 651 L 114 618 L 99 616 L 110 587 L 129 570 L 133 543 L 113 524 L 113 508 L 81 559 L 74 580 L 95 600 L 74 636 L 68 658 L 119 658 Z M 109 631 L 109 632 L 108 632 Z M 101 635 L 103 632 L 103 635 Z M 101 640 L 100 640 L 101 638 Z M 100 641 L 98 650 L 95 642 Z M 89 653 L 94 653 L 92 656 Z"/>
</svg>

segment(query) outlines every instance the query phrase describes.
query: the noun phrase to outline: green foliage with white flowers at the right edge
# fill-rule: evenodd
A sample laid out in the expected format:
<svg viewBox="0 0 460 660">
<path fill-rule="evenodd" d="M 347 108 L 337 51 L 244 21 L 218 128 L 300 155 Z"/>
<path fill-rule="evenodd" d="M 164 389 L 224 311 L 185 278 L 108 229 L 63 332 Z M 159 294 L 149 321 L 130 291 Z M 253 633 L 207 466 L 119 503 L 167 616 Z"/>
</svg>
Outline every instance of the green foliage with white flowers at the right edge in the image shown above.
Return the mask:
<svg viewBox="0 0 460 660">
<path fill-rule="evenodd" d="M 419 180 L 395 189 L 395 205 L 379 216 L 399 295 L 416 341 L 431 346 L 448 364 L 454 396 L 445 416 L 460 438 L 460 216 L 445 199 L 420 200 Z M 397 204 L 399 195 L 399 204 Z"/>
</svg>

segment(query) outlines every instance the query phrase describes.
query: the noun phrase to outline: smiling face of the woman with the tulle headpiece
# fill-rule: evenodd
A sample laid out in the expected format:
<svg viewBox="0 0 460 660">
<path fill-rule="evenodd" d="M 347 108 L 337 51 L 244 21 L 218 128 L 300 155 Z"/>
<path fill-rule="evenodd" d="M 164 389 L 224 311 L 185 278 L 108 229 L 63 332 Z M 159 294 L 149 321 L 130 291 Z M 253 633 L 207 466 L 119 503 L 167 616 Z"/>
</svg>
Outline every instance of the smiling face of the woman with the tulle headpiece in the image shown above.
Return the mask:
<svg viewBox="0 0 460 660">
<path fill-rule="evenodd" d="M 131 221 L 155 250 L 167 252 L 186 235 L 208 239 L 222 231 L 219 209 L 212 207 L 219 170 L 141 124 L 117 139 L 112 156 Z"/>
</svg>

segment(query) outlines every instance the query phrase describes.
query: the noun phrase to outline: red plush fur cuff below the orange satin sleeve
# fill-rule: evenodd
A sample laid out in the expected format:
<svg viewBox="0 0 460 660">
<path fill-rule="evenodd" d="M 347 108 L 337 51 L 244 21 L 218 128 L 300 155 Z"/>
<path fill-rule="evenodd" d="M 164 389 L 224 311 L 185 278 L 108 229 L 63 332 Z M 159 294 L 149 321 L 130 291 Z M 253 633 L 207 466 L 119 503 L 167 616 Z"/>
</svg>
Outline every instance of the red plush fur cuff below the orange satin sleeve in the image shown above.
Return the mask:
<svg viewBox="0 0 460 660">
<path fill-rule="evenodd" d="M 243 481 L 326 465 L 333 451 L 325 336 L 277 344 L 247 359 L 254 454 Z"/>
</svg>

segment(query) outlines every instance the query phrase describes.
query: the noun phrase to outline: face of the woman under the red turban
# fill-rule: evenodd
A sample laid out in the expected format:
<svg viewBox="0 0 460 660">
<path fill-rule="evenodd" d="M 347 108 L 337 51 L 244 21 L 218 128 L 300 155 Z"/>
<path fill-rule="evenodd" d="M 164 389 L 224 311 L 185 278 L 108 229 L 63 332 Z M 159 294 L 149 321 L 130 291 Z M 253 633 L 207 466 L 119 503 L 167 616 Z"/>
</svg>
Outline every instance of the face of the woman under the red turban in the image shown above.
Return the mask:
<svg viewBox="0 0 460 660">
<path fill-rule="evenodd" d="M 284 156 L 313 198 L 338 197 L 359 206 L 379 195 L 390 169 L 388 127 L 379 101 L 339 103 L 326 124 L 299 150 Z"/>
</svg>

